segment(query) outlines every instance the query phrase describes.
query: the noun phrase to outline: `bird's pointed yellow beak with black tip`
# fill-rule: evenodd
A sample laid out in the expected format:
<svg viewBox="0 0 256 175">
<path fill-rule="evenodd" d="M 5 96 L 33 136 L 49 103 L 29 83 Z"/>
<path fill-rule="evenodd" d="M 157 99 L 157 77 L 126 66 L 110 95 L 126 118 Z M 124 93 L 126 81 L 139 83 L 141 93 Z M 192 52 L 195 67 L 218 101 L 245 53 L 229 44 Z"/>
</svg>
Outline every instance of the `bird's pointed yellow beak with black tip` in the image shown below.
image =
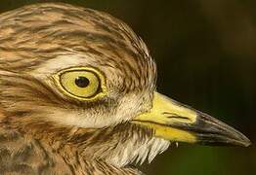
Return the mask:
<svg viewBox="0 0 256 175">
<path fill-rule="evenodd" d="M 232 126 L 158 92 L 154 92 L 151 110 L 137 116 L 132 123 L 149 127 L 155 137 L 173 142 L 243 147 L 251 144 L 247 137 Z"/>
</svg>

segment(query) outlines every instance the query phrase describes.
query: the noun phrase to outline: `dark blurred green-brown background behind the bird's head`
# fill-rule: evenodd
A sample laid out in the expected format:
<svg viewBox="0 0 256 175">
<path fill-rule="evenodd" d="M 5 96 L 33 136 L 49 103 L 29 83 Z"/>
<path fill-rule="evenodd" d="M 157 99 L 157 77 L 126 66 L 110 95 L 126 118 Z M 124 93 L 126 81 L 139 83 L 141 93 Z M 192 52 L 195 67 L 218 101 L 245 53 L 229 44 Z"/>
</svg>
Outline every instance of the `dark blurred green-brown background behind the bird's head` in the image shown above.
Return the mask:
<svg viewBox="0 0 256 175">
<path fill-rule="evenodd" d="M 1 0 L 0 12 L 43 0 Z M 158 90 L 232 124 L 256 142 L 255 0 L 64 0 L 121 18 L 158 66 Z M 1 25 L 1 23 L 0 23 Z M 180 144 L 149 175 L 254 175 L 256 147 Z"/>
</svg>

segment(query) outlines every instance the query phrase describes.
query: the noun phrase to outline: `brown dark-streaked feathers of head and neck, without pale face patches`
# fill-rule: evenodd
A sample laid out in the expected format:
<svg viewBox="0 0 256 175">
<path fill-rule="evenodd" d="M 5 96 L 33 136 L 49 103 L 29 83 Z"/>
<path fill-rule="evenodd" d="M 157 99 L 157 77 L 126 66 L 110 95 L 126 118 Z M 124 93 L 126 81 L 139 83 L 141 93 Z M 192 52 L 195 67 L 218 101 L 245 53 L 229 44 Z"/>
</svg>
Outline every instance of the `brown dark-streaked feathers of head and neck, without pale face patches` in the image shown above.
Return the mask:
<svg viewBox="0 0 256 175">
<path fill-rule="evenodd" d="M 42 82 L 40 72 L 43 71 L 40 69 L 60 55 L 90 56 L 94 58 L 90 65 L 103 67 L 102 70 L 106 69 L 109 75 L 114 71 L 116 77 L 113 81 L 123 81 L 116 87 L 109 84 L 119 92 L 118 98 L 128 91 L 140 93 L 144 88 L 152 91 L 155 67 L 141 39 L 116 18 L 65 4 L 23 7 L 2 14 L 0 22 L 0 103 L 3 111 L 1 127 L 4 127 L 1 133 L 6 144 L 1 145 L 4 151 L 0 157 L 4 161 L 10 159 L 10 164 L 1 163 L 1 172 L 139 173 L 130 168 L 117 168 L 104 159 L 120 139 L 129 140 L 133 132 L 138 132 L 141 134 L 138 134 L 140 139 L 136 144 L 140 144 L 150 131 L 144 132 L 145 129 L 128 123 L 103 129 L 84 129 L 44 121 L 42 118 L 51 113 L 51 108 L 68 112 L 79 108 L 77 106 L 91 108 L 94 104 L 86 105 L 58 94 L 51 85 Z M 107 110 L 108 105 L 117 105 L 112 101 L 98 103 Z M 20 144 L 14 145 L 13 135 L 19 139 L 15 143 Z M 4 156 L 4 152 L 9 154 Z M 12 164 L 16 157 L 22 159 L 17 160 L 17 167 Z"/>
</svg>

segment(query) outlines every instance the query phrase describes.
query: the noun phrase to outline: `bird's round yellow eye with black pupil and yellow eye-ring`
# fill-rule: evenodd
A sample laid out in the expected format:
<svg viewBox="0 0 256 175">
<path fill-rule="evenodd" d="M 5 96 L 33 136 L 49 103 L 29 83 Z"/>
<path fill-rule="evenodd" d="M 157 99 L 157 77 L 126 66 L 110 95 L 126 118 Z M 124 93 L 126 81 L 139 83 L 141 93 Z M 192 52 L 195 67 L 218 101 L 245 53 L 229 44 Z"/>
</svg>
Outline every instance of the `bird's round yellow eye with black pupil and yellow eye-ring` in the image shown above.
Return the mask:
<svg viewBox="0 0 256 175">
<path fill-rule="evenodd" d="M 65 94 L 80 100 L 106 93 L 104 76 L 93 68 L 70 68 L 59 72 L 55 80 Z"/>
</svg>

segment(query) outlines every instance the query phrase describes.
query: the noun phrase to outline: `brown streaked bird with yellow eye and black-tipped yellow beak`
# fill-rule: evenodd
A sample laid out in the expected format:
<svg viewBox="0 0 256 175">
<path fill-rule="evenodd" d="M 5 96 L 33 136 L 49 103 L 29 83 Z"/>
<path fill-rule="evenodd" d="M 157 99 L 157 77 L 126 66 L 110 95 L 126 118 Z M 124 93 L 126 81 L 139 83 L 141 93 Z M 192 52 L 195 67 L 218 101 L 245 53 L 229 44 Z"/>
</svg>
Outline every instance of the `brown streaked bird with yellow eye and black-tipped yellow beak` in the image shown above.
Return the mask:
<svg viewBox="0 0 256 175">
<path fill-rule="evenodd" d="M 39 3 L 0 23 L 1 175 L 137 175 L 172 143 L 250 145 L 158 92 L 147 45 L 118 18 Z"/>
</svg>

